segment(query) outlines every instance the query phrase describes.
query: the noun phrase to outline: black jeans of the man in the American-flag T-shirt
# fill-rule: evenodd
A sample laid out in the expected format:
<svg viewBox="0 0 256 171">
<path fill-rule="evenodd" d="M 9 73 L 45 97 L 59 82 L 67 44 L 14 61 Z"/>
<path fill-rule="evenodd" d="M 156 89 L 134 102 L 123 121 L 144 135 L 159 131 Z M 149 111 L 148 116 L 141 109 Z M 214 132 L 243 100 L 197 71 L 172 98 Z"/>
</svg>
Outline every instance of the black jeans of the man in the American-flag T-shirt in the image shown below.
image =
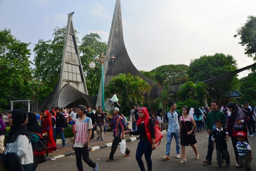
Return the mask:
<svg viewBox="0 0 256 171">
<path fill-rule="evenodd" d="M 82 158 L 85 161 L 85 163 L 90 167 L 94 168 L 96 166 L 96 163 L 94 163 L 89 158 L 88 147 L 75 147 L 75 155 L 76 155 L 76 166 L 78 171 L 83 170 Z"/>
</svg>

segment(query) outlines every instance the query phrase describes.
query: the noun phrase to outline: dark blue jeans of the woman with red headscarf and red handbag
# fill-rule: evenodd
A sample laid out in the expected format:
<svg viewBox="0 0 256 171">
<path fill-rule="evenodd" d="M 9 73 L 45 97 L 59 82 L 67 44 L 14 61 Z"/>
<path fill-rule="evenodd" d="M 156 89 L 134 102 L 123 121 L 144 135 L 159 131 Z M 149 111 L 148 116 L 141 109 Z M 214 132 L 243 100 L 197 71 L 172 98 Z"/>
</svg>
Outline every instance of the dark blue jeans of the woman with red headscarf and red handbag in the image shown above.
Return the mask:
<svg viewBox="0 0 256 171">
<path fill-rule="evenodd" d="M 145 170 L 142 156 L 144 154 L 144 157 L 147 162 L 147 169 L 148 171 L 152 171 L 152 161 L 151 161 L 151 153 L 152 153 L 152 147 L 148 140 L 140 140 L 138 143 L 137 151 L 135 158 L 137 160 L 137 163 L 139 165 L 139 168 L 141 171 Z"/>
</svg>

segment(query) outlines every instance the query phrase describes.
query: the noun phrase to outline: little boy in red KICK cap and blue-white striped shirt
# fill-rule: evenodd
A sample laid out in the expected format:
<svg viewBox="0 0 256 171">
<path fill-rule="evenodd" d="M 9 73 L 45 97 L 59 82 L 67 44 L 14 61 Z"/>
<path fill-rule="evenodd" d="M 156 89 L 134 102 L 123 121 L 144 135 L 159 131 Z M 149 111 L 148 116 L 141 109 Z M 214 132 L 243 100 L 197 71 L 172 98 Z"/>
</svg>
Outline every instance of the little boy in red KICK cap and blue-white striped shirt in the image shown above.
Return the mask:
<svg viewBox="0 0 256 171">
<path fill-rule="evenodd" d="M 251 170 L 250 160 L 253 159 L 251 147 L 245 141 L 246 134 L 243 131 L 239 131 L 236 134 L 237 136 L 237 153 L 238 153 L 238 164 L 244 166 L 244 170 Z"/>
</svg>

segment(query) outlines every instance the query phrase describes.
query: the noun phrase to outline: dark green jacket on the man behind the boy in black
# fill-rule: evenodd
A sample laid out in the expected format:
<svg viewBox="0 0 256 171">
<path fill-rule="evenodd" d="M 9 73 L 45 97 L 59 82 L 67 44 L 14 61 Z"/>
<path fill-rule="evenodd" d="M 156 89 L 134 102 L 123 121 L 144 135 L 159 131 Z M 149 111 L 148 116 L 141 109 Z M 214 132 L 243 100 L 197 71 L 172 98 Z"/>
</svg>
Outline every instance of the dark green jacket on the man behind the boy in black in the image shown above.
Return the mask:
<svg viewBox="0 0 256 171">
<path fill-rule="evenodd" d="M 227 123 L 227 120 L 225 118 L 225 115 L 223 112 L 221 112 L 221 110 L 216 110 L 216 111 L 211 111 L 207 114 L 207 117 L 206 117 L 206 130 L 210 129 L 212 131 L 211 134 L 213 134 L 213 123 L 215 123 L 215 121 L 217 119 L 220 119 L 222 120 L 222 127 L 224 128 L 226 123 Z"/>
</svg>

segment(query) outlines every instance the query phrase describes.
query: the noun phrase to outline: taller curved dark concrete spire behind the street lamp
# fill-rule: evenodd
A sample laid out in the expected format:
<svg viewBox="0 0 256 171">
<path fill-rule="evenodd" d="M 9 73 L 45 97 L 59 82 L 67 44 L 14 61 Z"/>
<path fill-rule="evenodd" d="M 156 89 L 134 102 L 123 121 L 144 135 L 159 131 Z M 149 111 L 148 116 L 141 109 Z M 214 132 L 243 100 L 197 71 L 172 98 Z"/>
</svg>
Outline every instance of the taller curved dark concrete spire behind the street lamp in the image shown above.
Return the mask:
<svg viewBox="0 0 256 171">
<path fill-rule="evenodd" d="M 112 19 L 112 25 L 109 33 L 108 46 L 107 46 L 105 56 L 109 54 L 113 54 L 116 60 L 115 61 L 108 60 L 104 63 L 104 86 L 107 86 L 109 84 L 109 81 L 113 76 L 116 76 L 120 73 L 122 74 L 131 73 L 133 75 L 137 74 L 141 78 L 143 78 L 143 80 L 147 81 L 150 85 L 155 84 L 155 82 L 146 78 L 136 69 L 136 67 L 131 62 L 130 57 L 126 51 L 124 38 L 123 38 L 120 0 L 116 0 L 114 15 Z M 99 87 L 97 105 L 101 105 L 101 83 Z M 106 104 L 105 107 L 106 109 L 109 110 L 110 106 L 107 106 Z"/>
</svg>

